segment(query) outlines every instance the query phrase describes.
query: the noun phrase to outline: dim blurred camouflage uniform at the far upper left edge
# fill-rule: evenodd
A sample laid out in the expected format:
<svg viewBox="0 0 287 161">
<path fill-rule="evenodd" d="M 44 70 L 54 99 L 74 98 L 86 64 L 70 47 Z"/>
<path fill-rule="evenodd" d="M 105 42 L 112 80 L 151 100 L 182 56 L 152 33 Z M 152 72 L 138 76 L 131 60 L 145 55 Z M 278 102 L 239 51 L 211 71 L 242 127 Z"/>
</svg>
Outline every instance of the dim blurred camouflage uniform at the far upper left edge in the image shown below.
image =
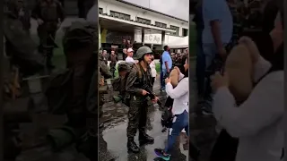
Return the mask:
<svg viewBox="0 0 287 161">
<path fill-rule="evenodd" d="M 13 4 L 10 4 L 11 6 Z M 17 64 L 22 76 L 28 76 L 43 69 L 43 56 L 37 51 L 37 44 L 23 30 L 22 21 L 12 8 L 4 13 L 4 36 L 6 54 L 11 63 Z"/>
</svg>

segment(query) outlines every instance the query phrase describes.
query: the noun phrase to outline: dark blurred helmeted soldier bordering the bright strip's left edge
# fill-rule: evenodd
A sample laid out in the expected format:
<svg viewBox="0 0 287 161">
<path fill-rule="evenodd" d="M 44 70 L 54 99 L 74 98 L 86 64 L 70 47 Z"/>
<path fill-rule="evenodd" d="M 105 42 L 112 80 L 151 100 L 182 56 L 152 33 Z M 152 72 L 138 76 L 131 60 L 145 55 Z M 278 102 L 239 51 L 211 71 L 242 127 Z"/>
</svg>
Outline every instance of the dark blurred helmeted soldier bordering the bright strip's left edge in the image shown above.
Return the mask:
<svg viewBox="0 0 287 161">
<path fill-rule="evenodd" d="M 82 32 L 78 32 L 82 30 Z M 98 57 L 95 54 L 98 43 L 97 28 L 90 22 L 75 21 L 65 30 L 63 47 L 66 67 L 73 70 L 72 92 L 69 98 L 67 126 L 81 136 L 77 148 L 91 161 L 98 157 Z M 96 71 L 96 72 L 95 72 Z"/>
</svg>

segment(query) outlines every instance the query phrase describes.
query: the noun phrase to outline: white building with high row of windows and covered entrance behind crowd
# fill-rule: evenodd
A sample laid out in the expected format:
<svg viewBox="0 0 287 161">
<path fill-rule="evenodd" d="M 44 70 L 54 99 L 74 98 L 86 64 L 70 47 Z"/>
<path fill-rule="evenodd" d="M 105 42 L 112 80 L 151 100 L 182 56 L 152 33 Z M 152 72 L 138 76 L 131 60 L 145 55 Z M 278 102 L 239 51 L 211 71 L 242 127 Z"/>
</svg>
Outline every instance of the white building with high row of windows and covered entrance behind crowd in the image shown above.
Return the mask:
<svg viewBox="0 0 287 161">
<path fill-rule="evenodd" d="M 104 48 L 117 47 L 126 39 L 161 50 L 188 36 L 188 21 L 119 0 L 99 0 L 99 22 Z"/>
</svg>

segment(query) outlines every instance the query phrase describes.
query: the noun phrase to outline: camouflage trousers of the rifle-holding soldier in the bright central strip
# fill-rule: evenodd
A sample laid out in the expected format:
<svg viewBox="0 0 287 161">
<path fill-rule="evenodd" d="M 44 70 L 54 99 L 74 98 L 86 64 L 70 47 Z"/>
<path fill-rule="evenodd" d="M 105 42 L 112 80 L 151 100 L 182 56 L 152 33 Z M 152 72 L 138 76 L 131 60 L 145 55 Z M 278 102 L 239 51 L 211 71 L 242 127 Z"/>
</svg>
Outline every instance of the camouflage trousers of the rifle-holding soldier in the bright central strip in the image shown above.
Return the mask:
<svg viewBox="0 0 287 161">
<path fill-rule="evenodd" d="M 145 132 L 148 117 L 148 101 L 143 99 L 136 100 L 132 97 L 128 109 L 128 123 L 126 129 L 127 138 L 135 137 L 137 129 L 139 132 Z"/>
</svg>

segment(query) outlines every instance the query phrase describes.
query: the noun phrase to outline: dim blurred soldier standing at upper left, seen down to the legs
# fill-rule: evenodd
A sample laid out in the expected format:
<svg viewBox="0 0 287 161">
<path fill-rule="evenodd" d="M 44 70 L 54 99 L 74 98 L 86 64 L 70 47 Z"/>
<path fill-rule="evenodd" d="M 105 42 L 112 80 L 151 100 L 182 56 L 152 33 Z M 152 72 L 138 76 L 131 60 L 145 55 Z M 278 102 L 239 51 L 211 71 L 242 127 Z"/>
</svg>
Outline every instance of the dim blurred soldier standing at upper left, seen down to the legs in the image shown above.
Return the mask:
<svg viewBox="0 0 287 161">
<path fill-rule="evenodd" d="M 55 37 L 61 22 L 65 20 L 62 5 L 57 0 L 39 0 L 32 11 L 32 18 L 38 21 L 39 49 L 47 56 L 47 67 L 53 69 Z"/>
</svg>

